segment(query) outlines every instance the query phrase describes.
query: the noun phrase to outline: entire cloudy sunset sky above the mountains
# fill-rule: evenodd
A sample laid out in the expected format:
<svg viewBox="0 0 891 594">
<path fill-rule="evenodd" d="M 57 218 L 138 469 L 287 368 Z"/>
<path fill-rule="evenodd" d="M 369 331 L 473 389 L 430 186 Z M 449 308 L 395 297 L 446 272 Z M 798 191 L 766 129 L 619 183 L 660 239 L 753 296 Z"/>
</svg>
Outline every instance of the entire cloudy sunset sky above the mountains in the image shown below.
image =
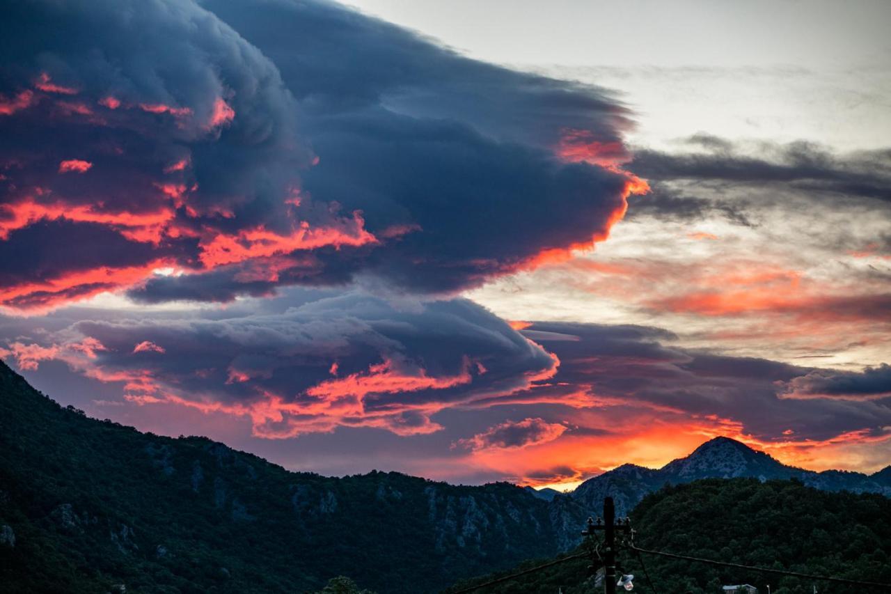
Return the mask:
<svg viewBox="0 0 891 594">
<path fill-rule="evenodd" d="M 0 357 L 294 470 L 891 462 L 884 2 L 0 23 Z"/>
</svg>

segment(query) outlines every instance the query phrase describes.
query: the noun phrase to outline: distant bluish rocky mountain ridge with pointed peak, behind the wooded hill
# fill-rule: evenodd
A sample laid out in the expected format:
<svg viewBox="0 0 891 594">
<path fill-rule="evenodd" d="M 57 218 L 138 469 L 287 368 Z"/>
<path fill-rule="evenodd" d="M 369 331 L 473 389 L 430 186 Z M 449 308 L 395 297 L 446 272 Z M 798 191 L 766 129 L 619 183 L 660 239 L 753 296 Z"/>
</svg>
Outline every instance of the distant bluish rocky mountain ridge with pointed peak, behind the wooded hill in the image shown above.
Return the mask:
<svg viewBox="0 0 891 594">
<path fill-rule="evenodd" d="M 643 497 L 666 483 L 691 483 L 704 478 L 751 477 L 797 479 L 824 491 L 872 492 L 891 496 L 891 466 L 875 474 L 840 470 L 813 472 L 780 461 L 728 437 L 706 441 L 685 458 L 678 458 L 658 470 L 625 464 L 580 484 L 571 497 L 592 514 L 599 513 L 603 498 L 612 496 L 617 514 L 627 514 Z"/>
</svg>

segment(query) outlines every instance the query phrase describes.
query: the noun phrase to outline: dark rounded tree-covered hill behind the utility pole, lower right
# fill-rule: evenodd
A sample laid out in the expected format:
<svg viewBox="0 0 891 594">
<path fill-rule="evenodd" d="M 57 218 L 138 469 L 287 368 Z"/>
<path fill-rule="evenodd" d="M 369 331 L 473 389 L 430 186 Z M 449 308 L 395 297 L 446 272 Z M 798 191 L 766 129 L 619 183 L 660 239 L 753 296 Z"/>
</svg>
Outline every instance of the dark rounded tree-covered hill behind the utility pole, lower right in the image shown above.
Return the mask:
<svg viewBox="0 0 891 594">
<path fill-rule="evenodd" d="M 704 479 L 666 486 L 631 510 L 635 544 L 737 563 L 829 575 L 857 582 L 891 583 L 891 499 L 874 493 L 820 491 L 797 480 Z M 584 548 L 577 549 L 577 552 Z M 576 552 L 576 551 L 574 551 Z M 545 559 L 459 582 L 450 590 L 511 575 Z M 773 594 L 888 591 L 866 586 L 813 582 L 645 554 L 643 562 L 621 541 L 617 565 L 634 575 L 634 591 L 710 594 L 723 585 L 749 583 Z M 552 565 L 486 588 L 486 594 L 583 594 L 602 591 L 589 578 L 588 558 Z M 649 575 L 653 589 L 647 581 Z M 448 590 L 447 590 L 448 591 Z"/>
</svg>

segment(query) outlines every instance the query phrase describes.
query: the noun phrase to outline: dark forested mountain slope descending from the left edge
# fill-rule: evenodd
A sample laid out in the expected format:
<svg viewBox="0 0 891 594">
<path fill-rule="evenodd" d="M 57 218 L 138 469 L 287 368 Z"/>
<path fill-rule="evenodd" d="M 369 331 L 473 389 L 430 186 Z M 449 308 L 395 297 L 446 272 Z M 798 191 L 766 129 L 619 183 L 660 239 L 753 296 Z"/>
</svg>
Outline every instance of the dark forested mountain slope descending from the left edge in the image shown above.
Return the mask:
<svg viewBox="0 0 891 594">
<path fill-rule="evenodd" d="M 378 592 L 573 546 L 584 510 L 509 483 L 293 473 L 87 418 L 0 363 L 0 592 Z"/>
</svg>

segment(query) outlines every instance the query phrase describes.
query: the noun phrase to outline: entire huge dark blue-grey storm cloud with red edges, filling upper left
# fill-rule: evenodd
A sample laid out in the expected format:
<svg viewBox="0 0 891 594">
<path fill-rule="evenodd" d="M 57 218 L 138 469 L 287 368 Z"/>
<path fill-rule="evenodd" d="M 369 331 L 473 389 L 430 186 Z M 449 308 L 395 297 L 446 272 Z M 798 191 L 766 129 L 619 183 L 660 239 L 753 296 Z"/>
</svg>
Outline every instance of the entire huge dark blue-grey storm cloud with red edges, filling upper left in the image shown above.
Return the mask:
<svg viewBox="0 0 891 594">
<path fill-rule="evenodd" d="M 120 235 L 135 262 L 4 276 L 7 305 L 127 286 L 231 301 L 357 275 L 451 292 L 590 245 L 625 209 L 632 177 L 557 154 L 574 135 L 625 158 L 629 120 L 601 89 L 336 4 L 33 2 L 0 37 L 0 255 L 64 220 Z"/>
</svg>

